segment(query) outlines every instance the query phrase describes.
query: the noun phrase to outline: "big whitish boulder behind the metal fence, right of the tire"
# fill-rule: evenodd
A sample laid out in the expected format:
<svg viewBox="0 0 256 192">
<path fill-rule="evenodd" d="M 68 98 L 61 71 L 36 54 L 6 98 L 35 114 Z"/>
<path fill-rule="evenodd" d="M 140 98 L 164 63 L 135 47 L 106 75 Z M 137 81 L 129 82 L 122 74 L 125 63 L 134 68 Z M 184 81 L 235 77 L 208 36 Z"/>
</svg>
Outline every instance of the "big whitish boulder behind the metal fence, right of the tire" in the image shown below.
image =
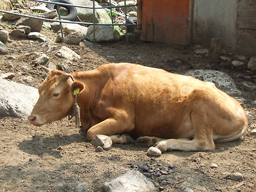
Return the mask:
<svg viewBox="0 0 256 192">
<path fill-rule="evenodd" d="M 93 6 L 93 1 L 90 0 L 70 0 L 71 3 L 81 6 Z M 95 6 L 99 6 L 97 2 L 95 2 Z M 93 22 L 93 9 L 88 8 L 76 8 L 77 16 L 83 22 Z M 77 18 L 76 21 L 80 21 Z M 95 9 L 95 22 L 96 23 L 106 23 L 111 24 L 111 19 L 108 13 L 104 9 Z"/>
</svg>

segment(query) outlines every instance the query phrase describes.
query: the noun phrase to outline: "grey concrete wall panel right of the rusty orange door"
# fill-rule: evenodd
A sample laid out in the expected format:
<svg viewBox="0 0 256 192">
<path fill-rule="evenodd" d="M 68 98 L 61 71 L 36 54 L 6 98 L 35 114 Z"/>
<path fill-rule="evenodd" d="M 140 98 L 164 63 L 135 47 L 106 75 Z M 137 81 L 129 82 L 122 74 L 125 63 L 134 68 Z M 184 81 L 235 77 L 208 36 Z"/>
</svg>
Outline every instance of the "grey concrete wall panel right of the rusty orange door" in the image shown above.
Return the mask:
<svg viewBox="0 0 256 192">
<path fill-rule="evenodd" d="M 194 0 L 193 44 L 209 47 L 220 38 L 221 47 L 236 50 L 237 0 Z"/>
</svg>

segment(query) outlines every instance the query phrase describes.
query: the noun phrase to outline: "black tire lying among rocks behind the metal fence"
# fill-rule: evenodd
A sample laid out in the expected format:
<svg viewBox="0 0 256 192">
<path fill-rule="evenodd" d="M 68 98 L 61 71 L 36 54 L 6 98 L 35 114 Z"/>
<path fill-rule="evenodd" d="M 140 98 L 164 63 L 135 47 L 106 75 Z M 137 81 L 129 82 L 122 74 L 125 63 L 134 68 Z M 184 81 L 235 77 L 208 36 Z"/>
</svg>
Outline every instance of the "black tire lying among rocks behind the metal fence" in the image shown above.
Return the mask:
<svg viewBox="0 0 256 192">
<path fill-rule="evenodd" d="M 51 0 L 51 1 L 52 2 L 58 2 L 59 1 L 59 3 L 72 4 L 71 2 L 69 2 L 67 0 Z M 57 10 L 57 4 L 47 3 L 46 7 L 49 8 L 49 10 Z M 73 19 L 76 18 L 76 16 L 77 16 L 76 7 L 74 7 L 74 6 L 65 6 L 65 5 L 60 5 L 60 7 L 63 7 L 68 11 L 68 15 L 61 15 L 61 19 L 73 20 Z"/>
</svg>

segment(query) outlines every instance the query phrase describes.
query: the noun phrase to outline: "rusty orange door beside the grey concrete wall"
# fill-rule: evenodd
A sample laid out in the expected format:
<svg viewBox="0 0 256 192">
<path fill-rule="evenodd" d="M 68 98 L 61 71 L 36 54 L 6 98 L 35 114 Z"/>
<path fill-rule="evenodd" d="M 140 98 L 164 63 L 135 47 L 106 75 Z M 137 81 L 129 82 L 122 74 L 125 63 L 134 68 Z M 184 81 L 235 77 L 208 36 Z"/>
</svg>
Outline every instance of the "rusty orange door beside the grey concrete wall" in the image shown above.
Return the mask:
<svg viewBox="0 0 256 192">
<path fill-rule="evenodd" d="M 189 45 L 190 0 L 143 0 L 141 40 Z"/>
</svg>

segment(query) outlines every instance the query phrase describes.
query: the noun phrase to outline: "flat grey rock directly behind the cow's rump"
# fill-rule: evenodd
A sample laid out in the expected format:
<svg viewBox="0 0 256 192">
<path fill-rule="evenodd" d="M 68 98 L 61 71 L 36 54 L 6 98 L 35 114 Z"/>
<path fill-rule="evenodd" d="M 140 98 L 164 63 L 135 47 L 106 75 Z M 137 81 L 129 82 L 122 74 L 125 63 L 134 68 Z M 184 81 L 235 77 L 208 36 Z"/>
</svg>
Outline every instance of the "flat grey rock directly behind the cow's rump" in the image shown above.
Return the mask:
<svg viewBox="0 0 256 192">
<path fill-rule="evenodd" d="M 241 91 L 237 89 L 233 79 L 224 72 L 202 69 L 190 70 L 186 72 L 185 75 L 195 77 L 196 79 L 200 79 L 202 81 L 214 83 L 217 88 L 227 93 L 228 95 L 231 95 L 232 97 L 241 95 Z"/>
</svg>

